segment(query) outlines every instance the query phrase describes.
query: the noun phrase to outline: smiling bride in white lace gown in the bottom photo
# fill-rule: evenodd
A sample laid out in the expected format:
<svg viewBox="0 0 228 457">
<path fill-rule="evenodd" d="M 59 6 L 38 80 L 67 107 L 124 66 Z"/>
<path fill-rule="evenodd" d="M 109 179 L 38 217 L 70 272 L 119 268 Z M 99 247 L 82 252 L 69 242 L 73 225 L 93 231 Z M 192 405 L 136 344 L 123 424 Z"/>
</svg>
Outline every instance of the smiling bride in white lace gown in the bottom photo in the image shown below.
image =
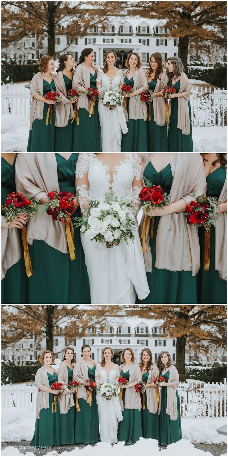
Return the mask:
<svg viewBox="0 0 228 457">
<path fill-rule="evenodd" d="M 101 363 L 97 364 L 95 370 L 97 387 L 100 387 L 101 383 L 106 383 L 108 381 L 109 383 L 116 384 L 116 390 L 118 389 L 119 367 L 112 362 L 113 356 L 113 350 L 110 347 L 104 347 Z M 117 443 L 118 424 L 123 420 L 118 392 L 117 396 L 112 397 L 110 400 L 101 397 L 97 392 L 96 399 L 98 404 L 101 441 L 109 444 Z"/>
</svg>

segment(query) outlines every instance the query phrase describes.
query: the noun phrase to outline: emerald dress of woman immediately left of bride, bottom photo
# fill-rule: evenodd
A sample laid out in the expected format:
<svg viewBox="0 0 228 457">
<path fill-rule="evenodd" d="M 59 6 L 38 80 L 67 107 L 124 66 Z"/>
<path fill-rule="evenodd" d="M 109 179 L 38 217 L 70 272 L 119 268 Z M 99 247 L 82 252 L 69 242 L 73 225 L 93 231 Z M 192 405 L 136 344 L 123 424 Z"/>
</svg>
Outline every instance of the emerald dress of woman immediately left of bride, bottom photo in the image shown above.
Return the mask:
<svg viewBox="0 0 228 457">
<path fill-rule="evenodd" d="M 88 367 L 89 381 L 95 380 L 95 365 Z M 84 389 L 84 387 L 80 387 Z M 80 411 L 76 410 L 74 442 L 82 444 L 97 443 L 100 441 L 98 405 L 96 403 L 96 390 L 93 389 L 92 406 L 84 399 L 78 399 Z"/>
</svg>

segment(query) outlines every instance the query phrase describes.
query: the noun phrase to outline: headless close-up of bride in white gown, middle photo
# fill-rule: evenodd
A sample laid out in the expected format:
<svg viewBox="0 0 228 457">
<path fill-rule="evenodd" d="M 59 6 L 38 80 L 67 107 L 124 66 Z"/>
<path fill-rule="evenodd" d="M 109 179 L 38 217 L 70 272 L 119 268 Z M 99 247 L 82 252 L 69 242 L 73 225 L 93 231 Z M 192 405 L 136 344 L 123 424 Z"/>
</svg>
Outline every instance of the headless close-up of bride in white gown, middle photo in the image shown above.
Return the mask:
<svg viewBox="0 0 228 457">
<path fill-rule="evenodd" d="M 76 187 L 83 216 L 91 198 L 104 202 L 112 189 L 115 197 L 131 202 L 136 217 L 142 188 L 141 154 L 79 154 Z M 120 241 L 112 249 L 81 235 L 91 303 L 135 303 L 136 293 L 140 300 L 149 294 L 138 230 L 134 234 L 134 241 L 128 245 Z"/>
</svg>

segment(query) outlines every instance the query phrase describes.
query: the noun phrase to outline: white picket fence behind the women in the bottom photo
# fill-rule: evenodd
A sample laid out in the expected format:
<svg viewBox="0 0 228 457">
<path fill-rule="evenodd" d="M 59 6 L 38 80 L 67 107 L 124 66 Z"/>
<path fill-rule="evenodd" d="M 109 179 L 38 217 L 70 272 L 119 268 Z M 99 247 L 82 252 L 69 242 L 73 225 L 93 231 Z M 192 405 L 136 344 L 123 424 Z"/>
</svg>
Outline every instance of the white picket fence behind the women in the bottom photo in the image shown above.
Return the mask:
<svg viewBox="0 0 228 457">
<path fill-rule="evenodd" d="M 182 418 L 201 417 L 226 417 L 227 386 L 224 384 L 202 383 L 190 381 L 180 383 L 177 389 Z M 36 386 L 26 385 L 3 385 L 1 388 L 2 408 L 17 406 L 18 408 L 29 409 L 32 413 L 36 410 Z"/>
</svg>

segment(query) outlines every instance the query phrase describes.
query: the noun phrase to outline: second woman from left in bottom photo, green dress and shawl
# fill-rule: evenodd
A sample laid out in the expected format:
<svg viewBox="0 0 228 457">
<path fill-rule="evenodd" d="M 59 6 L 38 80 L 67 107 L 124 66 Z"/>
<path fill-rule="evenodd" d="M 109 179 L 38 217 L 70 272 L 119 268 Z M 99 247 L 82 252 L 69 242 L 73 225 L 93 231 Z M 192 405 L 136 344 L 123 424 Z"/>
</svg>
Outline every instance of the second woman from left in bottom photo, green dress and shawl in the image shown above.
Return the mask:
<svg viewBox="0 0 228 457">
<path fill-rule="evenodd" d="M 58 368 L 58 383 L 64 384 L 65 388 L 59 395 L 59 413 L 60 413 L 60 444 L 74 443 L 75 427 L 75 402 L 74 393 L 77 388 L 70 390 L 69 383 L 73 380 L 73 367 L 76 356 L 72 347 L 64 349 L 62 363 Z"/>
</svg>

